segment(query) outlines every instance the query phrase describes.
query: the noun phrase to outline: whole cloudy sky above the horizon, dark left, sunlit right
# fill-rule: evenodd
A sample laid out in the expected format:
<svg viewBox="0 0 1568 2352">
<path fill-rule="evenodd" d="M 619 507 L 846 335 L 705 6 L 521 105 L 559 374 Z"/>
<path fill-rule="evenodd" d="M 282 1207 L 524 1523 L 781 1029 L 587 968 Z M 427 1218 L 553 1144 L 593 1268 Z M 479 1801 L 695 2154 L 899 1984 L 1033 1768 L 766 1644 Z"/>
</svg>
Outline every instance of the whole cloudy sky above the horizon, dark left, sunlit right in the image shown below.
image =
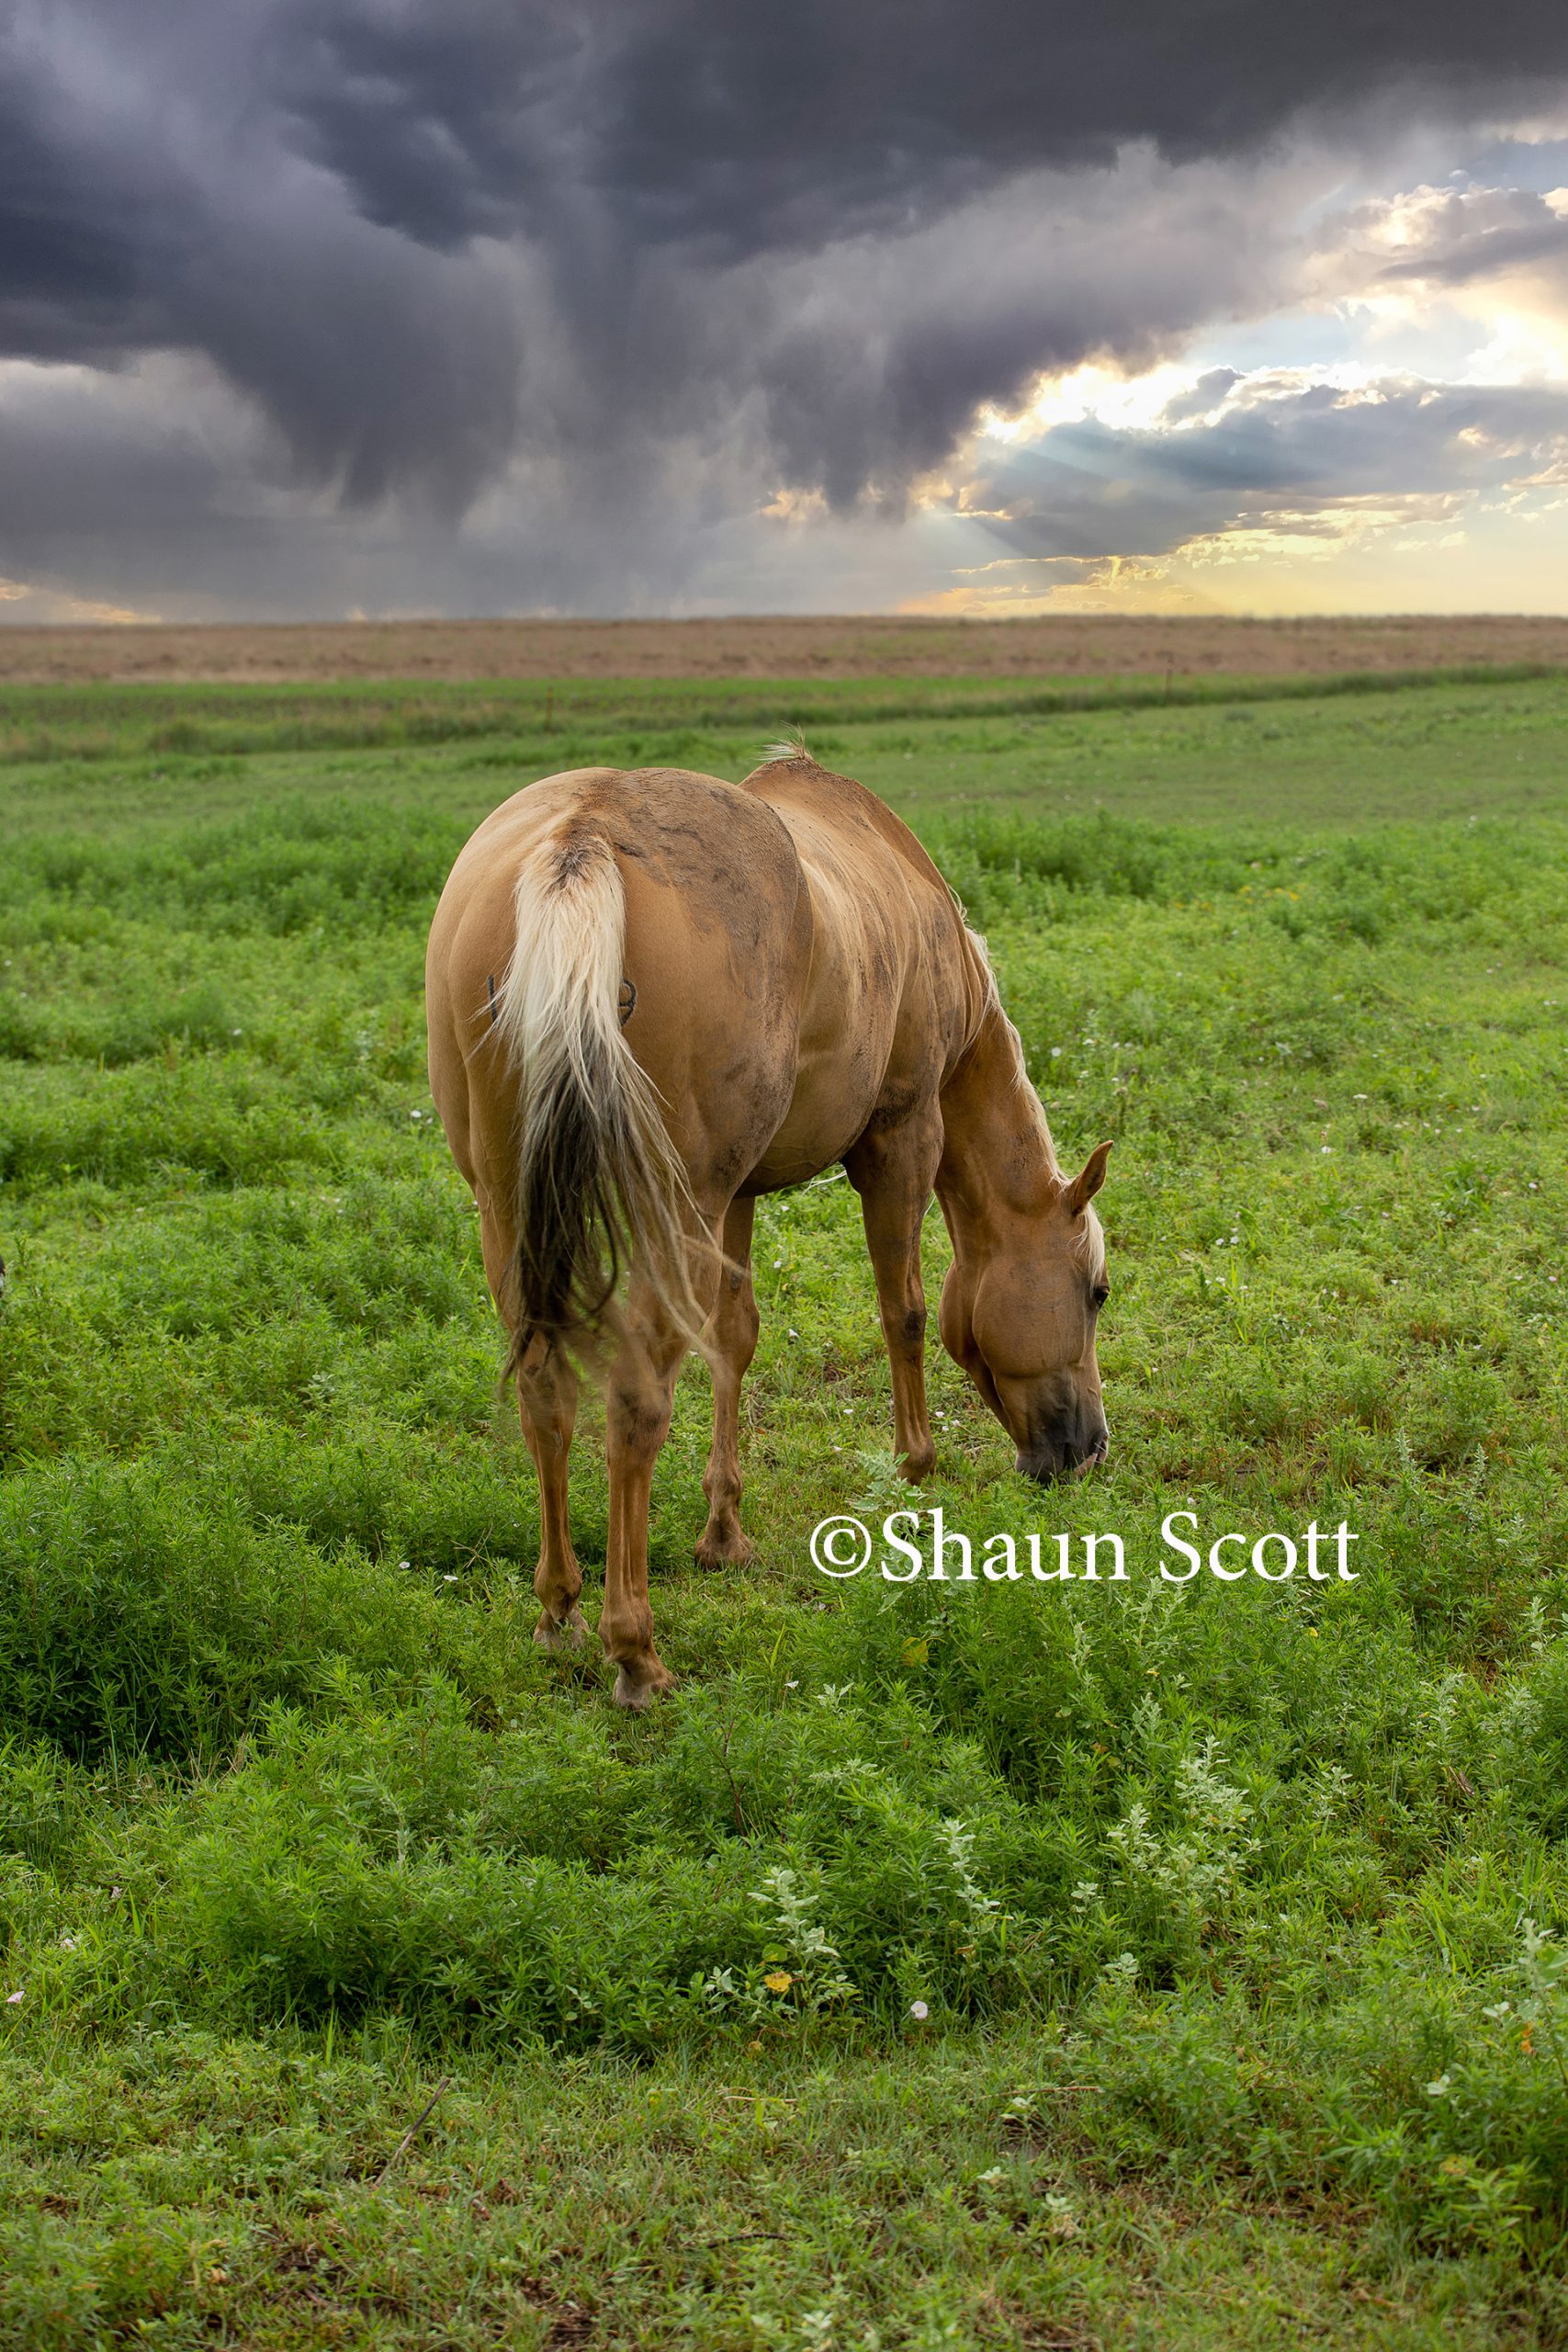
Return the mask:
<svg viewBox="0 0 1568 2352">
<path fill-rule="evenodd" d="M 7 0 L 0 621 L 1568 612 L 1568 7 Z"/>
</svg>

